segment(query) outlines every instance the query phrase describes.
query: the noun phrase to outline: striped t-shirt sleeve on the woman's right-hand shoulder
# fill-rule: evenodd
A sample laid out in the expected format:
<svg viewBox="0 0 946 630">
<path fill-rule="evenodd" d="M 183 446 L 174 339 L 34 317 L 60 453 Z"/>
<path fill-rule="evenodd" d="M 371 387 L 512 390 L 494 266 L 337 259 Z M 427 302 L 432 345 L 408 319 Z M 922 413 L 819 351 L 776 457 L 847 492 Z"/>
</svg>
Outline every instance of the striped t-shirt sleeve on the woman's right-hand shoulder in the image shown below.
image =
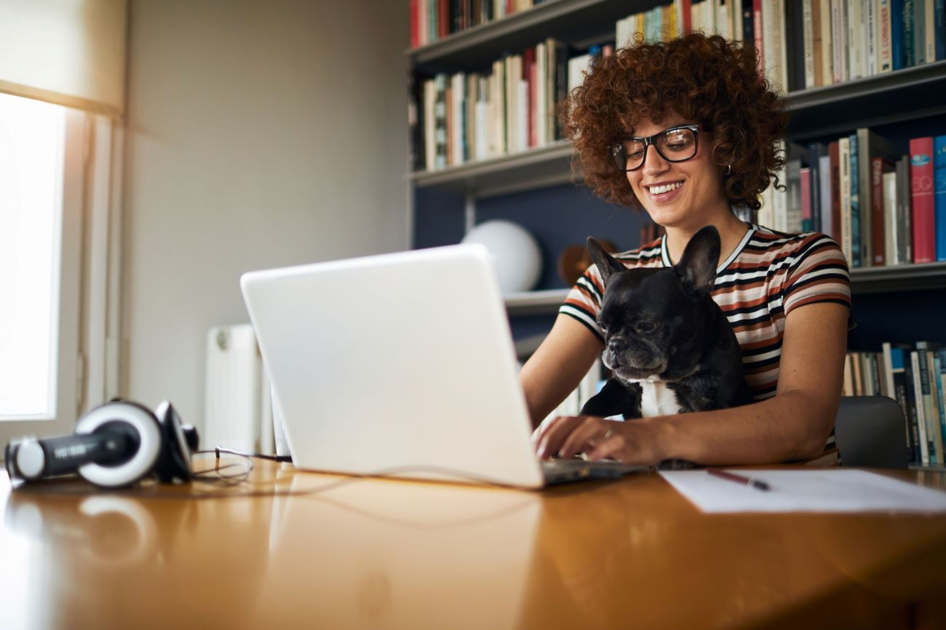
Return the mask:
<svg viewBox="0 0 946 630">
<path fill-rule="evenodd" d="M 841 247 L 830 236 L 812 233 L 800 242 L 792 258 L 782 288 L 785 315 L 806 304 L 833 302 L 848 308 L 848 328 L 852 329 L 850 276 Z"/>
</svg>

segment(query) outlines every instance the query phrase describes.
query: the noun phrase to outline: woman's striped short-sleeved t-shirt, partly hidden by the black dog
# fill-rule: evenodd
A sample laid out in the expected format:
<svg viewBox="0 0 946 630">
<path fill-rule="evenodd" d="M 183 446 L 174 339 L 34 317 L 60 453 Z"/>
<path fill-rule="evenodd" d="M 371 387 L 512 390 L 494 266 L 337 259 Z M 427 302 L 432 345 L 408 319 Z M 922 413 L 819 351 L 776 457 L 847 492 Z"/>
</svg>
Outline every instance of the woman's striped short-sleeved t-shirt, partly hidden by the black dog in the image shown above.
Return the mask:
<svg viewBox="0 0 946 630">
<path fill-rule="evenodd" d="M 673 265 L 666 236 L 614 257 L 628 268 Z M 559 313 L 574 317 L 604 341 L 597 322 L 603 292 L 601 274 L 592 264 L 572 287 Z M 750 225 L 739 245 L 716 269 L 710 295 L 736 332 L 743 349 L 745 379 L 755 400 L 765 400 L 775 396 L 779 382 L 785 316 L 815 302 L 844 304 L 850 310 L 848 264 L 841 248 L 825 234 L 787 234 Z M 849 326 L 851 323 L 849 316 Z M 832 431 L 823 455 L 809 463 L 830 465 L 836 461 Z"/>
</svg>

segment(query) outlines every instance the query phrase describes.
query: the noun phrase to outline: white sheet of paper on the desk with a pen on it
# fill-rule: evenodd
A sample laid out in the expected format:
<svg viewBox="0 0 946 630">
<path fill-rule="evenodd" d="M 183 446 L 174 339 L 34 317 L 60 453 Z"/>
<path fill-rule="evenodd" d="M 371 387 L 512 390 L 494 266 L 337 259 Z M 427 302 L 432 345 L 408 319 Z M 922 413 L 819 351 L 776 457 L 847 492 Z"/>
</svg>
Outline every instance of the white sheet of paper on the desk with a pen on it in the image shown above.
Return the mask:
<svg viewBox="0 0 946 630">
<path fill-rule="evenodd" d="M 946 492 L 865 470 L 745 470 L 729 472 L 766 482 L 760 490 L 706 470 L 660 475 L 703 512 L 946 512 Z"/>
</svg>

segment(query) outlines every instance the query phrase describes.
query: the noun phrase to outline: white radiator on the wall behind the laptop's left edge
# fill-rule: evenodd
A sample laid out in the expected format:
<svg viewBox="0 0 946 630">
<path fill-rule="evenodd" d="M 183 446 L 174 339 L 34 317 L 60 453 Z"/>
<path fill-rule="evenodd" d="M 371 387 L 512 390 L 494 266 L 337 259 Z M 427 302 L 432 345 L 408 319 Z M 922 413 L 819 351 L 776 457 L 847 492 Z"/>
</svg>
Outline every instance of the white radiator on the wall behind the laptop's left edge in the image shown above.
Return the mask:
<svg viewBox="0 0 946 630">
<path fill-rule="evenodd" d="M 207 332 L 201 449 L 272 453 L 272 396 L 250 324 Z"/>
</svg>

